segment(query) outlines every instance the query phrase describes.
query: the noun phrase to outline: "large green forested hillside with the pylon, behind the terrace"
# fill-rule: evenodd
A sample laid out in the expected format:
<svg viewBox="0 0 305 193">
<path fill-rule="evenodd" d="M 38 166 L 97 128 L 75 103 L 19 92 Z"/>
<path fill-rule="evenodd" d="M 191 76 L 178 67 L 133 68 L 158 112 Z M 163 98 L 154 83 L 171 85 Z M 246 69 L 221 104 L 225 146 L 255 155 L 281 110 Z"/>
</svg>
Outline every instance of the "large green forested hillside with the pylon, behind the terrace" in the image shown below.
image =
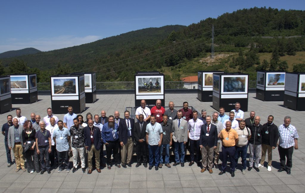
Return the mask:
<svg viewBox="0 0 305 193">
<path fill-rule="evenodd" d="M 198 68 L 188 68 L 190 73 L 225 70 L 229 68 L 229 63 L 233 70 L 239 66 L 236 72 L 247 72 L 252 68 L 251 72 L 255 73 L 253 67 L 259 65 L 258 52 L 271 53 L 275 50 L 280 55 L 293 55 L 296 51 L 305 50 L 305 11 L 254 7 L 207 18 L 187 27 L 147 28 L 81 46 L 3 59 L 2 63 L 13 66 L 24 61 L 30 67 L 52 68 L 34 71 L 39 72 L 41 78 L 79 71 L 97 72 L 97 81 L 134 81 L 136 71 L 164 72 L 166 69 L 165 80 L 179 80 L 184 66 L 194 58 L 209 55 L 212 25 L 215 28 L 215 52 L 239 52 L 239 57 L 219 65 L 203 64 Z M 261 36 L 301 37 L 265 39 Z M 276 60 L 273 66 L 279 63 Z M 273 69 L 277 69 L 275 67 Z M 42 82 L 48 80 L 41 79 Z"/>
</svg>

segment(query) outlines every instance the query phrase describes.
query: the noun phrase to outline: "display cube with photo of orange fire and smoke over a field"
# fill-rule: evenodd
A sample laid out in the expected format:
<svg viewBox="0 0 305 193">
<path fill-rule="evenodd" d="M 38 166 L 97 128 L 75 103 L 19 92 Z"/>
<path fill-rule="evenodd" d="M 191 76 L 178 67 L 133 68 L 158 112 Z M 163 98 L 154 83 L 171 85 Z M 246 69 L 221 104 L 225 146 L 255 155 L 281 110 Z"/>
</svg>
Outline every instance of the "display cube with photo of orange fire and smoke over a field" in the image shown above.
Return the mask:
<svg viewBox="0 0 305 193">
<path fill-rule="evenodd" d="M 262 101 L 283 101 L 285 72 L 257 71 L 256 98 Z"/>
</svg>

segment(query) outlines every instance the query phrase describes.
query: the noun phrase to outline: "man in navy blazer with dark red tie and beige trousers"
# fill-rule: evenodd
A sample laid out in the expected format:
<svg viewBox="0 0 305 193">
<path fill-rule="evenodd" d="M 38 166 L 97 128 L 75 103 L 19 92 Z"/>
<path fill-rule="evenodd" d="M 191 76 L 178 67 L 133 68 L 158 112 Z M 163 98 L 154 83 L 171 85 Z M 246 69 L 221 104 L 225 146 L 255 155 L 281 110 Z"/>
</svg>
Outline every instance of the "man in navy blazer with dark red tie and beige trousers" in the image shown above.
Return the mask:
<svg viewBox="0 0 305 193">
<path fill-rule="evenodd" d="M 200 147 L 202 155 L 202 169 L 201 172 L 209 170 L 213 173 L 213 153 L 214 148 L 217 148 L 218 140 L 217 127 L 211 124 L 211 116 L 206 116 L 206 124 L 201 125 L 200 131 Z"/>
</svg>

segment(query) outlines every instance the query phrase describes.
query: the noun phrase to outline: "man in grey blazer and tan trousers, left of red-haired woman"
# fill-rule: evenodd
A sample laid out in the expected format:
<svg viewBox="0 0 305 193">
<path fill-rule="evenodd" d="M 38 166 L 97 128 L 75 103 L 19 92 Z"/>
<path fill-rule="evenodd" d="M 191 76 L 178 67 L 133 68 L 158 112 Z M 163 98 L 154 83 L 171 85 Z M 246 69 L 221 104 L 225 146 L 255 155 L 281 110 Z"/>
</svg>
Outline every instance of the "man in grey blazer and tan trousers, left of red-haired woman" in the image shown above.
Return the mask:
<svg viewBox="0 0 305 193">
<path fill-rule="evenodd" d="M 15 162 L 16 162 L 16 170 L 15 172 L 18 172 L 20 170 L 20 167 L 22 171 L 26 171 L 24 167 L 24 157 L 23 157 L 23 140 L 22 140 L 22 131 L 23 126 L 19 124 L 18 119 L 13 119 L 13 126 L 9 127 L 8 132 L 8 146 L 9 150 L 13 149 L 14 156 L 15 156 Z"/>
</svg>

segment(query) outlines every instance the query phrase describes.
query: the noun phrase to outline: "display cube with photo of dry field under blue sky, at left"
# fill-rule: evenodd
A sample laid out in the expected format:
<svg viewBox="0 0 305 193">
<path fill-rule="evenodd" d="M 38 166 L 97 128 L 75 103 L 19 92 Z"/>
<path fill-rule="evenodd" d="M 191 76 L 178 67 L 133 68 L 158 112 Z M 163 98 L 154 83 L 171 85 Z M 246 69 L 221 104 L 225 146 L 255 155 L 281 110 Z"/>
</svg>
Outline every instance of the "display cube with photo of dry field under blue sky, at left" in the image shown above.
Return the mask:
<svg viewBox="0 0 305 193">
<path fill-rule="evenodd" d="M 29 104 L 38 101 L 37 75 L 10 75 L 12 104 Z"/>
</svg>

